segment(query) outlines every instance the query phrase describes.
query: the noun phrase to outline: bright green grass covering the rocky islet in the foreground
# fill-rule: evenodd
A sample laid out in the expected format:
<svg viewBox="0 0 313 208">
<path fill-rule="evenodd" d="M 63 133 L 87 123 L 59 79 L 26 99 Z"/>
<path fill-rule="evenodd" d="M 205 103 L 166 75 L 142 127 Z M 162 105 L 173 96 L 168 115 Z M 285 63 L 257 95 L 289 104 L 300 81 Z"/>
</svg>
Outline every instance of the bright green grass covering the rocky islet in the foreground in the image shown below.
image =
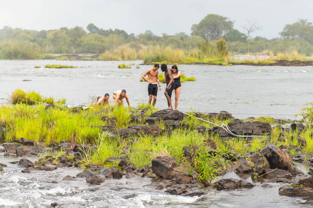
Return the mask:
<svg viewBox="0 0 313 208">
<path fill-rule="evenodd" d="M 78 107 L 65 108 L 62 106 L 64 99 L 57 102 L 49 98 L 50 103 L 54 104 L 43 105 L 34 100 L 47 102 L 46 98 L 34 91 L 25 93 L 21 89 L 14 91 L 10 98 L 12 105 L 0 107 L 2 142 L 23 137 L 43 149 L 51 145 L 61 147 L 57 152 L 45 152 L 43 158 L 62 154 L 64 148 L 80 145 L 86 147 L 80 159 L 77 159 L 77 165 L 82 168 L 112 167 L 120 160 L 112 163 L 107 163 L 107 160 L 116 157 L 126 158 L 136 168 L 144 168 L 154 158 L 171 157 L 189 167 L 190 171 L 195 171 L 199 181 L 211 182 L 217 175 L 227 171 L 231 161 L 237 160 L 235 158 L 249 157 L 270 144 L 284 149 L 291 158 L 301 155 L 302 162 L 309 161 L 313 155 L 313 107 L 302 111 L 302 122 L 306 127 L 298 123 L 290 129 L 281 126 L 288 125 L 285 120 L 262 117 L 236 120 L 229 113 L 190 112 L 185 116 L 179 111 L 158 111 L 144 104 L 131 108 L 135 111 L 107 106 L 83 110 Z M 312 103 L 310 105 L 313 106 Z M 163 113 L 165 117 L 158 119 L 155 117 L 158 113 Z M 239 125 L 253 128 L 254 133 L 258 131 L 260 137 L 233 137 L 222 128 L 198 120 L 195 116 L 218 125 L 223 123 L 230 128 L 239 122 Z M 164 119 L 166 117 L 171 120 Z M 256 124 L 254 127 L 253 122 Z M 232 131 L 246 134 L 236 128 Z"/>
</svg>

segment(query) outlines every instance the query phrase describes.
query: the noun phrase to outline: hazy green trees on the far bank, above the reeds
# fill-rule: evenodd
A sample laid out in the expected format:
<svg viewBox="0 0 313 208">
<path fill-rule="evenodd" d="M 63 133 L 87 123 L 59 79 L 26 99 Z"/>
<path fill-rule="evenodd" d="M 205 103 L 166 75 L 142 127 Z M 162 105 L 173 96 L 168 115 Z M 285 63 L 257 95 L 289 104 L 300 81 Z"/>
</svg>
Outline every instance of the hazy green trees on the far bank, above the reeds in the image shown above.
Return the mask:
<svg viewBox="0 0 313 208">
<path fill-rule="evenodd" d="M 5 26 L 0 29 L 0 58 L 35 59 L 40 54 L 102 54 L 114 51 L 121 45 L 139 51 L 145 46 L 171 47 L 183 51 L 202 50 L 205 44 L 224 38 L 226 48 L 234 54 L 267 53 L 272 51 L 292 52 L 311 56 L 313 53 L 313 25 L 305 19 L 299 19 L 286 25 L 281 37 L 266 39 L 251 37 L 251 33 L 259 29 L 250 24 L 245 28 L 247 34 L 234 28 L 234 22 L 227 17 L 208 14 L 198 24 L 191 27 L 191 35 L 184 32 L 162 36 L 147 30 L 135 35 L 119 29 L 101 29 L 89 24 L 84 30 L 81 27 L 60 28 L 58 30 L 23 30 Z"/>
</svg>

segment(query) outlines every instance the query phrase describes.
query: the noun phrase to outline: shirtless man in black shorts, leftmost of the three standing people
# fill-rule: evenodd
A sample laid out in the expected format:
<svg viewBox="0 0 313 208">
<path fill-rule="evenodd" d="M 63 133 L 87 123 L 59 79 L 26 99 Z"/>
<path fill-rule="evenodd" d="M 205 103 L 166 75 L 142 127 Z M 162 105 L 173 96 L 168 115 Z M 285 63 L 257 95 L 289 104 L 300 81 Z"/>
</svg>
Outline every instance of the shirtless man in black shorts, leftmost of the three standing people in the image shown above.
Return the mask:
<svg viewBox="0 0 313 208">
<path fill-rule="evenodd" d="M 157 102 L 158 85 L 159 85 L 159 89 L 161 91 L 161 85 L 160 85 L 160 80 L 159 80 L 159 76 L 158 76 L 159 75 L 159 67 L 160 67 L 160 65 L 158 63 L 156 63 L 156 64 L 154 64 L 154 66 L 152 68 L 150 68 L 150 70 L 148 70 L 147 72 L 145 72 L 145 74 L 143 74 L 141 76 L 144 80 L 149 82 L 149 84 L 148 84 L 148 95 L 149 95 L 148 103 L 151 105 L 152 96 L 153 96 L 153 102 L 152 102 L 153 106 L 155 105 L 155 102 Z M 148 75 L 149 80 L 146 78 L 147 75 Z"/>
</svg>

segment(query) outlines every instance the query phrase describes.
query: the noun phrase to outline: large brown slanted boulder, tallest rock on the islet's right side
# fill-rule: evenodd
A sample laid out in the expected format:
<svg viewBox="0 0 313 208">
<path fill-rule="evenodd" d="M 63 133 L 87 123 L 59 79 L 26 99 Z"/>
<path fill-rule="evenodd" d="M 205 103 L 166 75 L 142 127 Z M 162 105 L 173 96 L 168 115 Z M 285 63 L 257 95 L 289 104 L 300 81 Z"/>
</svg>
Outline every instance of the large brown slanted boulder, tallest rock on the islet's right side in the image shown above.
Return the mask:
<svg viewBox="0 0 313 208">
<path fill-rule="evenodd" d="M 289 155 L 273 144 L 265 146 L 261 150 L 261 154 L 269 161 L 272 169 L 288 170 L 293 167 L 293 161 Z"/>
</svg>

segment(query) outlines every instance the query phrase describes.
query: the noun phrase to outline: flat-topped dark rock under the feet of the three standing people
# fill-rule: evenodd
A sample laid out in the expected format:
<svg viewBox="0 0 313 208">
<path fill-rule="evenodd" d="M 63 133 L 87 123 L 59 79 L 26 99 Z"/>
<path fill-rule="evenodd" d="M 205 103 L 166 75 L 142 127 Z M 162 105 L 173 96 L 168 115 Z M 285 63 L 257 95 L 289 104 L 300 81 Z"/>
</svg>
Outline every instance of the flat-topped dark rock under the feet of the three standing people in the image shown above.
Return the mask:
<svg viewBox="0 0 313 208">
<path fill-rule="evenodd" d="M 148 123 L 155 123 L 158 121 L 166 121 L 166 120 L 174 120 L 174 121 L 182 121 L 184 118 L 184 114 L 178 110 L 159 110 L 155 113 L 152 113 L 150 117 L 146 119 Z"/>
</svg>

